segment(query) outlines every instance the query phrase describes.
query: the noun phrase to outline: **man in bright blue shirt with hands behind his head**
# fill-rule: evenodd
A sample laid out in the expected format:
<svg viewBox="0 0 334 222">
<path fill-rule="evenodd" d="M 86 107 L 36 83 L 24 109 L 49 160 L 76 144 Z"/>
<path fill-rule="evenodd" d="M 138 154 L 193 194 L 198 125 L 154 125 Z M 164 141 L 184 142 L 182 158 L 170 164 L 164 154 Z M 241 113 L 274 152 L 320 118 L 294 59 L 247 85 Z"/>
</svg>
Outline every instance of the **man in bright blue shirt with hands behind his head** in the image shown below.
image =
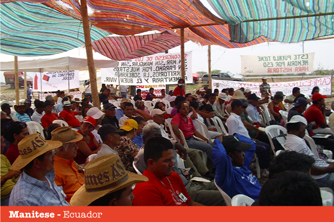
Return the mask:
<svg viewBox="0 0 334 222">
<path fill-rule="evenodd" d="M 253 200 L 258 200 L 261 185 L 249 170 L 255 153 L 254 142 L 236 133 L 234 136 L 224 136 L 220 139 L 215 139 L 213 146 L 216 184 L 230 198 L 244 194 Z"/>
</svg>

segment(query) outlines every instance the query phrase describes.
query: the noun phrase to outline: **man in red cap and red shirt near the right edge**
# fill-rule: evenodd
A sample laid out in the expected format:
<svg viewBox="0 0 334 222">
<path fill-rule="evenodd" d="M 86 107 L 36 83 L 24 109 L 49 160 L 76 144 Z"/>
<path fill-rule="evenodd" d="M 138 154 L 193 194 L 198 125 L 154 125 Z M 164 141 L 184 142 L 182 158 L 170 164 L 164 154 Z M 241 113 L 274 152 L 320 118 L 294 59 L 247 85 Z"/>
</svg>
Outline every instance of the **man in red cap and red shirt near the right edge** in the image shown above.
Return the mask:
<svg viewBox="0 0 334 222">
<path fill-rule="evenodd" d="M 332 134 L 326 122 L 326 104 L 324 98 L 327 98 L 327 96 L 321 95 L 320 93 L 313 94 L 313 104 L 304 112 L 304 117 L 308 124 L 310 124 L 310 122 L 316 122 L 313 133 Z"/>
</svg>

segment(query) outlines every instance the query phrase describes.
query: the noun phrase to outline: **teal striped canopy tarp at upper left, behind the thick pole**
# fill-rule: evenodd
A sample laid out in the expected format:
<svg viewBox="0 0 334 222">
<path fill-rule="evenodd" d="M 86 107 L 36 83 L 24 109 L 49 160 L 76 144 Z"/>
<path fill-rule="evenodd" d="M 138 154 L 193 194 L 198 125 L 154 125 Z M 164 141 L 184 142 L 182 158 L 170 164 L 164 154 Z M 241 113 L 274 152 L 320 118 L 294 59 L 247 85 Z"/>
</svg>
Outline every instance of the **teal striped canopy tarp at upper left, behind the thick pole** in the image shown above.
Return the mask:
<svg viewBox="0 0 334 222">
<path fill-rule="evenodd" d="M 1 4 L 1 52 L 46 56 L 85 45 L 82 22 L 41 4 Z M 110 35 L 91 28 L 92 41 Z"/>
</svg>

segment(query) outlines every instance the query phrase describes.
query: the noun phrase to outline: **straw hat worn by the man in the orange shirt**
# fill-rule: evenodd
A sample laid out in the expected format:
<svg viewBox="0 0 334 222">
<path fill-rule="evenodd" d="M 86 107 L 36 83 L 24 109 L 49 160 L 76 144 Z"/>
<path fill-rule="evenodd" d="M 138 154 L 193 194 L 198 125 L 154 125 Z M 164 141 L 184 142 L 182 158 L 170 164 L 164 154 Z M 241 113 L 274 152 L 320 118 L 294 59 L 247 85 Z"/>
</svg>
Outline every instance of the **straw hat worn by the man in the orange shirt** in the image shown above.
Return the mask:
<svg viewBox="0 0 334 222">
<path fill-rule="evenodd" d="M 70 127 L 59 127 L 51 132 L 51 140 L 61 141 L 62 143 L 78 142 L 84 138 L 78 132 L 73 131 Z"/>
</svg>

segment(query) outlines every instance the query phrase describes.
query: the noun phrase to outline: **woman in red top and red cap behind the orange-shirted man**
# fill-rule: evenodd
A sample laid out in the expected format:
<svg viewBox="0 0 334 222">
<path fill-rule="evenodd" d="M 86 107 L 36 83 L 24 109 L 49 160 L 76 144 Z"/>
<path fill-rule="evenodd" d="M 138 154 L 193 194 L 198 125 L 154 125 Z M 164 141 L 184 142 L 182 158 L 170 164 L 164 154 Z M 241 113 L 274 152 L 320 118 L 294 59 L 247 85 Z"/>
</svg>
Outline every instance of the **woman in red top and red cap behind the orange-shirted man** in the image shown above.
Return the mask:
<svg viewBox="0 0 334 222">
<path fill-rule="evenodd" d="M 87 157 L 91 154 L 96 154 L 101 148 L 102 144 L 98 144 L 95 136 L 92 134 L 95 124 L 96 121 L 93 117 L 86 116 L 78 130 L 78 133 L 84 136 L 82 140 L 76 142 L 79 150 L 74 160 L 78 164 L 85 164 Z"/>
</svg>

